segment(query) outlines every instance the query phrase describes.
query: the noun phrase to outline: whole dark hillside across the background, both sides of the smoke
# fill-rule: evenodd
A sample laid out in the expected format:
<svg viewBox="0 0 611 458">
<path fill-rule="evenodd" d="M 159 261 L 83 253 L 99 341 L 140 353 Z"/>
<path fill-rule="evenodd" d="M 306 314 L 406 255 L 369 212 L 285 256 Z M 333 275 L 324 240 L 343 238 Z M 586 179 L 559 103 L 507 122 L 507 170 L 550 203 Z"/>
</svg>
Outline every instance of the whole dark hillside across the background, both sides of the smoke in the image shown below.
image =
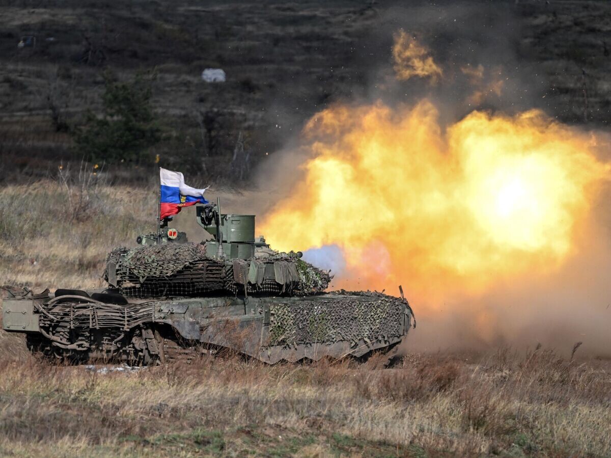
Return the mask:
<svg viewBox="0 0 611 458">
<path fill-rule="evenodd" d="M 111 164 L 113 176 L 138 182 L 142 174 L 135 168 L 152 166 L 159 154 L 162 165 L 180 164 L 201 182 L 247 182 L 316 111 L 338 100 L 376 97 L 379 69 L 390 67 L 392 33 L 411 26 L 429 32 L 420 18 L 438 11 L 447 14 L 439 20 L 445 25 L 428 40 L 438 56 L 448 57 L 444 50 L 465 37 L 469 47 L 485 49 L 492 36 L 483 33 L 487 21 L 507 23 L 511 33 L 494 34 L 511 55 L 499 58 L 515 77 L 507 100 L 521 108 L 539 106 L 564 122 L 607 124 L 608 2 L 464 2 L 456 16 L 462 29 L 473 14 L 464 11 L 479 15 L 479 26 L 469 26 L 469 33 L 447 26 L 450 6 L 347 0 L 86 0 L 61 7 L 2 2 L 1 180 L 38 179 L 54 175 L 60 162 L 81 161 L 68 130 L 87 109 L 99 112 L 104 72 L 128 80 L 144 70 L 157 75 L 152 106 L 164 141 L 150 151 L 150 160 Z M 35 45 L 18 48 L 24 37 L 34 37 Z M 227 81 L 202 81 L 208 67 L 222 68 Z M 234 152 L 240 133 L 244 150 Z"/>
</svg>

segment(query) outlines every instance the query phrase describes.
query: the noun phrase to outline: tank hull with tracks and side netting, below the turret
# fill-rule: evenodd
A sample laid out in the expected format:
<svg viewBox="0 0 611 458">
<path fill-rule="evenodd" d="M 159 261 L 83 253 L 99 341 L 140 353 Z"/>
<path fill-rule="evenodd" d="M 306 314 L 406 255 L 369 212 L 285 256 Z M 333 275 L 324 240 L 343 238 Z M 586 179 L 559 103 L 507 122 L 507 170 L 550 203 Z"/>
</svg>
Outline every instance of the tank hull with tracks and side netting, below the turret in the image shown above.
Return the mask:
<svg viewBox="0 0 611 458">
<path fill-rule="evenodd" d="M 70 294 L 66 294 L 70 293 Z M 116 300 L 63 290 L 4 301 L 3 328 L 61 360 L 148 364 L 230 349 L 265 363 L 361 357 L 401 342 L 407 301 L 376 293 Z M 101 299 L 101 300 L 100 300 Z M 103 301 L 105 300 L 105 302 Z M 188 349 L 189 352 L 184 350 Z"/>
</svg>

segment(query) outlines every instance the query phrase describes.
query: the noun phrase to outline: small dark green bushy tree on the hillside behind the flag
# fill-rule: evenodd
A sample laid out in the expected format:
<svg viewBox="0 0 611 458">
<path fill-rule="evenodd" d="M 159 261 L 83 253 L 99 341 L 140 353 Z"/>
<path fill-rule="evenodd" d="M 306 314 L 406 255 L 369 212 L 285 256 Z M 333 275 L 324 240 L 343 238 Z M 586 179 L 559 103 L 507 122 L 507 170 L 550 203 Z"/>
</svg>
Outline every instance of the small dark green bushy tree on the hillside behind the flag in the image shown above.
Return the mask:
<svg viewBox="0 0 611 458">
<path fill-rule="evenodd" d="M 96 161 L 142 160 L 161 140 L 150 105 L 154 79 L 137 73 L 133 81 L 120 83 L 104 73 L 101 116 L 88 111 L 84 124 L 74 130 L 80 151 Z"/>
</svg>

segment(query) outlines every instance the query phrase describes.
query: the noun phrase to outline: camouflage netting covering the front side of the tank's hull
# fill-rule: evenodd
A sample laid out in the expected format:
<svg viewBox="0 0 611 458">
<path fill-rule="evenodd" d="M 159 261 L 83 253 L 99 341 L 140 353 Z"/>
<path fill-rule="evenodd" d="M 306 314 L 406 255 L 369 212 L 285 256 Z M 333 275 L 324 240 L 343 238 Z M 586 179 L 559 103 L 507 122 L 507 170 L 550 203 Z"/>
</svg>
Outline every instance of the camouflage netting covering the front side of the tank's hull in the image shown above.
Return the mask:
<svg viewBox="0 0 611 458">
<path fill-rule="evenodd" d="M 356 345 L 360 339 L 389 341 L 403 334 L 404 301 L 373 292 L 342 294 L 271 306 L 269 345 L 338 341 Z"/>
</svg>

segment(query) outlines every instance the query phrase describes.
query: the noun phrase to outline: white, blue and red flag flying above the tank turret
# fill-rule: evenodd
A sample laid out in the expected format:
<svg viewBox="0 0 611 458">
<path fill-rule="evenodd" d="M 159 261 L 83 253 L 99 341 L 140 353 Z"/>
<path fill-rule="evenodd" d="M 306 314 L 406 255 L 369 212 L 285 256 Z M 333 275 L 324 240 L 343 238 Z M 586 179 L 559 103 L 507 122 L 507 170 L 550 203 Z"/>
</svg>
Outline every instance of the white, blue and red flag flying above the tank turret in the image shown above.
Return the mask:
<svg viewBox="0 0 611 458">
<path fill-rule="evenodd" d="M 182 207 L 190 205 L 207 204 L 203 193 L 208 188 L 196 189 L 185 185 L 185 177 L 180 172 L 159 168 L 161 181 L 161 199 L 159 202 L 159 219 L 176 215 Z"/>
</svg>

